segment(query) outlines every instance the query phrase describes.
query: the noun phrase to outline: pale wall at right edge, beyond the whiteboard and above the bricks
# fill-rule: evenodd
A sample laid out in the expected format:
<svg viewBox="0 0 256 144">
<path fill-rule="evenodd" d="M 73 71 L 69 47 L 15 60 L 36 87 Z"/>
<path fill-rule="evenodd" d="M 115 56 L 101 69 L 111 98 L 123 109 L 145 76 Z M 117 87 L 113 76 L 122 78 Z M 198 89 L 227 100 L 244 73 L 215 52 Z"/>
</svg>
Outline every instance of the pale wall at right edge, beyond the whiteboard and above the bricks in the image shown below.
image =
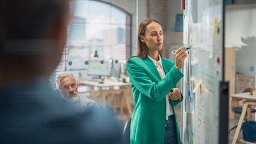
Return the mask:
<svg viewBox="0 0 256 144">
<path fill-rule="evenodd" d="M 225 47 L 237 47 L 236 72 L 255 76 L 256 7 L 230 8 L 225 14 Z M 251 66 L 254 71 L 249 71 Z"/>
</svg>

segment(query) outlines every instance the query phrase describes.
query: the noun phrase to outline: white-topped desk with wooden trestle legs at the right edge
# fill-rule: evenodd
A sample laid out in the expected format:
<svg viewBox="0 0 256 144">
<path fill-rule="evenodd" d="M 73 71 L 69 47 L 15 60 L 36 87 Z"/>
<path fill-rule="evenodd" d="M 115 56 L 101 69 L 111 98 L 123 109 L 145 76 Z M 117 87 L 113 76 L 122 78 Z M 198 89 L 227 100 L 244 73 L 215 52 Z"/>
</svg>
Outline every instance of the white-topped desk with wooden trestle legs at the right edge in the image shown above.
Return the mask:
<svg viewBox="0 0 256 144">
<path fill-rule="evenodd" d="M 251 121 L 251 106 L 256 106 L 256 97 L 255 95 L 249 95 L 249 92 L 244 92 L 240 94 L 231 94 L 231 97 L 242 99 L 239 101 L 239 105 L 243 106 L 242 113 L 240 115 L 240 119 L 236 128 L 236 133 L 234 134 L 232 144 L 235 144 L 237 141 L 244 142 L 244 143 L 251 143 L 251 142 L 244 141 L 243 138 L 238 139 L 238 135 L 242 127 L 243 119 L 245 119 L 246 111 L 247 111 L 248 121 Z"/>
</svg>

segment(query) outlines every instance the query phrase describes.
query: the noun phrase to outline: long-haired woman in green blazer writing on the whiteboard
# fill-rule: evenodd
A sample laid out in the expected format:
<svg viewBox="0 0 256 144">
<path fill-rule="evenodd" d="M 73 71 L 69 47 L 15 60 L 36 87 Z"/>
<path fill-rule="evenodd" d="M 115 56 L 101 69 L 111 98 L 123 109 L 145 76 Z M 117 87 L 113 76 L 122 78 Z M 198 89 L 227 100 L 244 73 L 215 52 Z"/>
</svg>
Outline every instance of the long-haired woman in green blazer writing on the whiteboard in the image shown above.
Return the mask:
<svg viewBox="0 0 256 144">
<path fill-rule="evenodd" d="M 181 143 L 174 106 L 183 97 L 175 88 L 187 54 L 180 47 L 175 62 L 162 58 L 163 31 L 160 23 L 146 19 L 139 25 L 136 56 L 127 60 L 126 70 L 134 97 L 130 143 Z M 171 92 L 170 92 L 171 91 Z"/>
</svg>

